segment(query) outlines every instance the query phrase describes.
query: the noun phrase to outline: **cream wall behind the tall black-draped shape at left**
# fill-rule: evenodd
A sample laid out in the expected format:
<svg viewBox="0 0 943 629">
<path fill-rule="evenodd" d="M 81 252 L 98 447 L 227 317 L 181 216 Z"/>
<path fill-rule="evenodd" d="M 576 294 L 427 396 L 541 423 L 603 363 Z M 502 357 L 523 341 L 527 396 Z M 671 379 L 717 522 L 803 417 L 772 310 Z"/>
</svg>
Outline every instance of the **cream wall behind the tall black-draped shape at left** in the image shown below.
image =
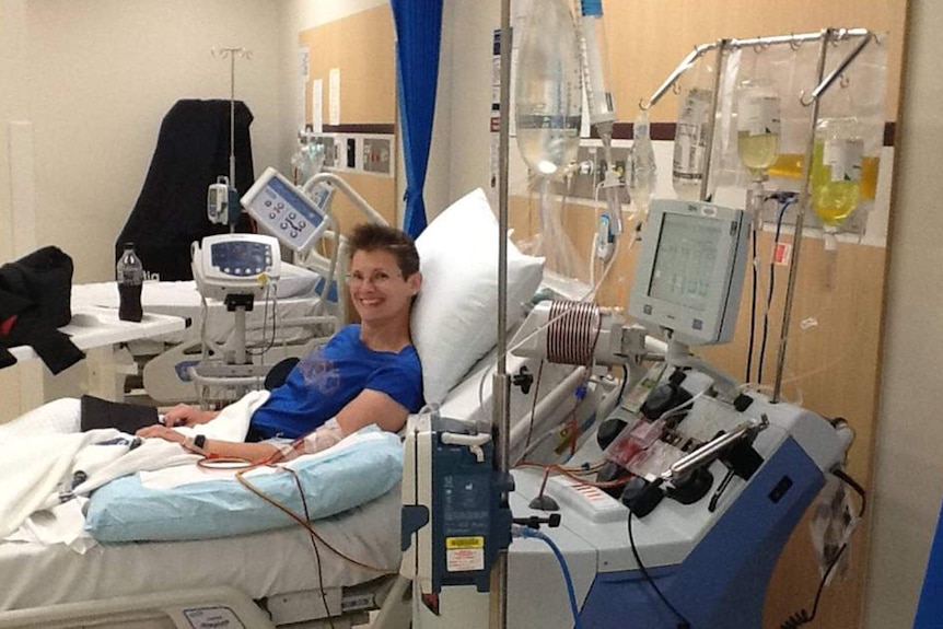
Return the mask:
<svg viewBox="0 0 943 629">
<path fill-rule="evenodd" d="M 114 277 L 164 115 L 181 98 L 229 98 L 213 46 L 253 50 L 236 97 L 255 116 L 256 172 L 273 163 L 280 20 L 259 0 L 0 0 L 0 261 L 57 245 L 74 282 Z M 0 421 L 42 399 L 45 373 L 0 371 Z"/>
</svg>

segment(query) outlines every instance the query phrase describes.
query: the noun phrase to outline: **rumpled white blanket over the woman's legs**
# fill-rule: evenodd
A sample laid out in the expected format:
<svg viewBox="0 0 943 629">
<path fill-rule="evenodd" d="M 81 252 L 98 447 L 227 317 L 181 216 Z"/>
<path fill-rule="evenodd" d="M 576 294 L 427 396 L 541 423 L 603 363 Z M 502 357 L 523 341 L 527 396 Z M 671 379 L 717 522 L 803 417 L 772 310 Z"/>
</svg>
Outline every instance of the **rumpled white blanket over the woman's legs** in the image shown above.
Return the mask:
<svg viewBox="0 0 943 629">
<path fill-rule="evenodd" d="M 185 434 L 242 441 L 252 412 L 268 398 L 253 392 L 226 407 L 211 422 L 179 428 Z M 74 404 L 73 404 L 74 403 Z M 57 400 L 0 430 L 0 538 L 15 537 L 73 545 L 78 550 L 84 520 L 80 503 L 108 480 L 140 470 L 191 463 L 197 457 L 162 439 L 139 439 L 115 429 L 78 429 L 78 400 Z M 36 514 L 36 517 L 32 517 Z"/>
</svg>

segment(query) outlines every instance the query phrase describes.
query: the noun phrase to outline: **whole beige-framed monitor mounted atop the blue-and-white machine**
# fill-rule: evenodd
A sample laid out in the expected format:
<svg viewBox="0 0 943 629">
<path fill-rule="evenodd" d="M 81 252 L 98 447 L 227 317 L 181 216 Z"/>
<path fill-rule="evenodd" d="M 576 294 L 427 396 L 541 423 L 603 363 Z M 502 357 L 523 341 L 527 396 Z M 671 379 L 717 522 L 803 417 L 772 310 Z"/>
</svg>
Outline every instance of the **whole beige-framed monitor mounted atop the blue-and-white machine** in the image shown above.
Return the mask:
<svg viewBox="0 0 943 629">
<path fill-rule="evenodd" d="M 653 199 L 629 315 L 687 345 L 733 337 L 747 261 L 749 214 L 700 201 Z"/>
</svg>

